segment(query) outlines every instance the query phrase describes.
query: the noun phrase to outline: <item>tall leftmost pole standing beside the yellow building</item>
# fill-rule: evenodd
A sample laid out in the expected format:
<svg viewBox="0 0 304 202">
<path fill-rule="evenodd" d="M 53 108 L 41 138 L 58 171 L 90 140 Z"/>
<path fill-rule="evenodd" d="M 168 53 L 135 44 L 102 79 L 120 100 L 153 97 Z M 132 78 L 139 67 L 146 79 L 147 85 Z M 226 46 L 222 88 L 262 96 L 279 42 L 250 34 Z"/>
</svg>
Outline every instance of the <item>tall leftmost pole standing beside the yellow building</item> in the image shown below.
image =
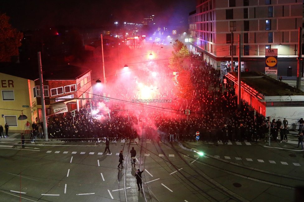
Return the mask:
<svg viewBox="0 0 304 202">
<path fill-rule="evenodd" d="M 43 78 L 42 78 L 42 67 L 41 67 L 41 55 L 40 52 L 37 52 L 38 56 L 38 72 L 39 72 L 39 80 L 40 80 L 40 99 L 41 99 L 41 112 L 42 112 L 42 123 L 43 123 L 43 131 L 44 131 L 44 140 L 49 141 L 48 131 L 47 131 L 47 121 L 45 114 L 45 102 L 44 102 L 44 88 L 43 88 Z"/>
</svg>

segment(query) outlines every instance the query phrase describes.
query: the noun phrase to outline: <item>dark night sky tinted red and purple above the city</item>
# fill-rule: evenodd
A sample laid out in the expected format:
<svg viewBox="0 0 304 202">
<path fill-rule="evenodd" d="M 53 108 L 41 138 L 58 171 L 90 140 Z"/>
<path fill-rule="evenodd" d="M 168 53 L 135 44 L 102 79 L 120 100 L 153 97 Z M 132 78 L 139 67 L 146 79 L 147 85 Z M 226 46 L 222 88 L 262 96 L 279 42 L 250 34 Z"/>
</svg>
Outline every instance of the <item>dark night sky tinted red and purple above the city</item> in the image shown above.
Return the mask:
<svg viewBox="0 0 304 202">
<path fill-rule="evenodd" d="M 188 21 L 195 0 L 1 0 L 0 12 L 10 17 L 18 30 L 68 26 L 99 28 L 119 23 L 140 23 L 155 15 L 162 26 Z"/>
</svg>

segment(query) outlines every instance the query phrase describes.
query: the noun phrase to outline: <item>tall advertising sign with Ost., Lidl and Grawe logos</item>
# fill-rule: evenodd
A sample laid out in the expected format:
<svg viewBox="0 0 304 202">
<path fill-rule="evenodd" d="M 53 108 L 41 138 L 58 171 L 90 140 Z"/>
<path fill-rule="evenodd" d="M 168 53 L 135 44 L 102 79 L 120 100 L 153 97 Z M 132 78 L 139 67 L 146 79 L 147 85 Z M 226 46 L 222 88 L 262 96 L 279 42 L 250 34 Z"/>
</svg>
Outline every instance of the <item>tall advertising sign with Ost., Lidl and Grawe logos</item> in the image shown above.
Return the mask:
<svg viewBox="0 0 304 202">
<path fill-rule="evenodd" d="M 265 49 L 265 74 L 277 78 L 278 75 L 278 49 Z"/>
</svg>

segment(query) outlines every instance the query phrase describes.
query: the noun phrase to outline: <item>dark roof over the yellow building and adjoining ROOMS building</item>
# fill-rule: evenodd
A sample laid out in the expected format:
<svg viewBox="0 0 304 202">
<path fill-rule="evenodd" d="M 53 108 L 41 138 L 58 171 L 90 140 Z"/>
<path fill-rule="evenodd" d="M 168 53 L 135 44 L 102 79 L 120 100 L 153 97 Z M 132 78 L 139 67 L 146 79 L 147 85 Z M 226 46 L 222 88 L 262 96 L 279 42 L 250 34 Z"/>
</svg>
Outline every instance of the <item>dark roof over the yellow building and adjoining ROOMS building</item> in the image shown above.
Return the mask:
<svg viewBox="0 0 304 202">
<path fill-rule="evenodd" d="M 45 80 L 76 80 L 91 70 L 74 65 L 43 65 L 42 71 Z M 38 63 L 0 62 L 0 72 L 29 80 L 39 79 Z"/>
</svg>

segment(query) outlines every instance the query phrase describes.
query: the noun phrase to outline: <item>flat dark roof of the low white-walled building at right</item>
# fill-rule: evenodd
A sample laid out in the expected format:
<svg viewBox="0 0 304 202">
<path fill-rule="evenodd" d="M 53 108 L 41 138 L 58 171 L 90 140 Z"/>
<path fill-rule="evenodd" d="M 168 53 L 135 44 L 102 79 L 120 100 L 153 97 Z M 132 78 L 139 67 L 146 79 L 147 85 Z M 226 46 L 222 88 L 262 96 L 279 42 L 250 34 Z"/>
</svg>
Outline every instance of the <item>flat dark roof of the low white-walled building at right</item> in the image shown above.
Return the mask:
<svg viewBox="0 0 304 202">
<path fill-rule="evenodd" d="M 238 77 L 235 72 L 232 75 Z M 303 91 L 260 72 L 242 72 L 241 80 L 265 96 L 304 95 Z"/>
</svg>

